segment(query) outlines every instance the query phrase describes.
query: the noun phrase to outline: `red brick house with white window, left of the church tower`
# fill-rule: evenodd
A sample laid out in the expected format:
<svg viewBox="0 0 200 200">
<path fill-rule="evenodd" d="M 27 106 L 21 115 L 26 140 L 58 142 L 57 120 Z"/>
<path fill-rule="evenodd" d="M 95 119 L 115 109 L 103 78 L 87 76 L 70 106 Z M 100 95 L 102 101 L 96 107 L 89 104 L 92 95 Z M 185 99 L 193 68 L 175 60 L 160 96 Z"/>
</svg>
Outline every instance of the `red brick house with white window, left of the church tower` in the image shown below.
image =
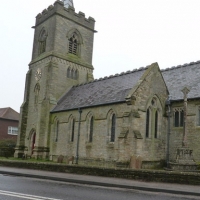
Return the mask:
<svg viewBox="0 0 200 200">
<path fill-rule="evenodd" d="M 0 140 L 17 140 L 19 113 L 12 108 L 0 108 Z"/>
</svg>

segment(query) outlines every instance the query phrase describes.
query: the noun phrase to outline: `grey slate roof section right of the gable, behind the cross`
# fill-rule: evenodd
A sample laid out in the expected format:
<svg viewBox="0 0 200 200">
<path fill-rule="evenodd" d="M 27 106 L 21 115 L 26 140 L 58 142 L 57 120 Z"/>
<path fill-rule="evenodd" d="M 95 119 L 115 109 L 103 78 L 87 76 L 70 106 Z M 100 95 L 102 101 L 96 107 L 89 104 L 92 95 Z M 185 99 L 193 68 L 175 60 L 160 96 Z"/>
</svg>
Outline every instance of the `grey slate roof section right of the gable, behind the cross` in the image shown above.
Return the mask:
<svg viewBox="0 0 200 200">
<path fill-rule="evenodd" d="M 200 61 L 162 70 L 172 100 L 183 99 L 181 90 L 188 87 L 188 99 L 200 98 Z"/>
</svg>

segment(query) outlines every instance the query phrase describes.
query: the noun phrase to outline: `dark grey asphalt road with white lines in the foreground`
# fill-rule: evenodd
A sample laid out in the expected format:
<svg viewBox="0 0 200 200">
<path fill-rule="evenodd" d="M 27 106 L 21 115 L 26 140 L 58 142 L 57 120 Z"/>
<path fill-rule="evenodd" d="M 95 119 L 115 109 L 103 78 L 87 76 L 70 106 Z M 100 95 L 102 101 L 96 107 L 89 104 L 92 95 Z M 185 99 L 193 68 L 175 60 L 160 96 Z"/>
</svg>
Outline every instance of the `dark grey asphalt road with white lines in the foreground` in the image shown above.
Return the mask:
<svg viewBox="0 0 200 200">
<path fill-rule="evenodd" d="M 199 197 L 68 184 L 0 174 L 0 200 L 191 200 Z"/>
</svg>

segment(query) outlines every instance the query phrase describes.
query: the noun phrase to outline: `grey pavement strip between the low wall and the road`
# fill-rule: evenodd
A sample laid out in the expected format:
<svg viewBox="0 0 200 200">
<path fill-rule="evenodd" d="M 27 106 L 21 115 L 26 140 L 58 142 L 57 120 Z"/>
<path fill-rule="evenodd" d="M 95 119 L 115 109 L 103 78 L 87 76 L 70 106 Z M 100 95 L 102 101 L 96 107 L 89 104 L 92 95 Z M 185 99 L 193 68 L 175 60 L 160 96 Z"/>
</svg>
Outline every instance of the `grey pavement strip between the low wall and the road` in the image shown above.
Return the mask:
<svg viewBox="0 0 200 200">
<path fill-rule="evenodd" d="M 0 174 L 61 181 L 67 183 L 103 186 L 110 188 L 134 189 L 147 192 L 162 192 L 200 197 L 200 187 L 196 185 L 143 182 L 130 179 L 49 172 L 11 167 L 0 167 Z"/>
</svg>

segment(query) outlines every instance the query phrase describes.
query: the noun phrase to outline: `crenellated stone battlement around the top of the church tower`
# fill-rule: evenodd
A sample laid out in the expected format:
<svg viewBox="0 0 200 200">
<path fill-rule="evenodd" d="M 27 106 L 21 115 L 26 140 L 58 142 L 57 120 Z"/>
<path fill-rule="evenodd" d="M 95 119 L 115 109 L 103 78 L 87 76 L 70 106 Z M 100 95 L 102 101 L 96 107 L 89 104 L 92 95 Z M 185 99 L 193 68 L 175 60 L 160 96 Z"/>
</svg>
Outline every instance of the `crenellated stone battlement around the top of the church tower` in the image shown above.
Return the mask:
<svg viewBox="0 0 200 200">
<path fill-rule="evenodd" d="M 50 5 L 47 9 L 44 9 L 42 13 L 39 13 L 36 16 L 35 26 L 41 24 L 49 17 L 55 14 L 70 19 L 75 23 L 81 24 L 89 29 L 94 30 L 95 26 L 94 18 L 92 17 L 89 17 L 88 19 L 85 18 L 85 14 L 83 12 L 75 13 L 75 9 L 73 7 L 65 8 L 64 3 L 60 0 L 55 1 L 54 5 Z"/>
</svg>

